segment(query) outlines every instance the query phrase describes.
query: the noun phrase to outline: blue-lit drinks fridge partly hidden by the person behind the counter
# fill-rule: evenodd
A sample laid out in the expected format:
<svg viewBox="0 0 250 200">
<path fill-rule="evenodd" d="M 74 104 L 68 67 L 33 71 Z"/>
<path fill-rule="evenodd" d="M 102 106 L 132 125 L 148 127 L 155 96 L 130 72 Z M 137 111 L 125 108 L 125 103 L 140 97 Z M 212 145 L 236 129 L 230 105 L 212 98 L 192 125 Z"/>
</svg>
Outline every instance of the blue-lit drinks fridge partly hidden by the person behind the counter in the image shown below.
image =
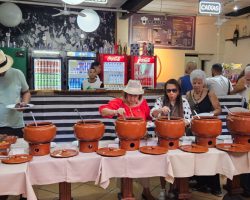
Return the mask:
<svg viewBox="0 0 250 200">
<path fill-rule="evenodd" d="M 67 52 L 67 86 L 68 90 L 81 90 L 88 70 L 96 59 L 94 52 Z"/>
</svg>

